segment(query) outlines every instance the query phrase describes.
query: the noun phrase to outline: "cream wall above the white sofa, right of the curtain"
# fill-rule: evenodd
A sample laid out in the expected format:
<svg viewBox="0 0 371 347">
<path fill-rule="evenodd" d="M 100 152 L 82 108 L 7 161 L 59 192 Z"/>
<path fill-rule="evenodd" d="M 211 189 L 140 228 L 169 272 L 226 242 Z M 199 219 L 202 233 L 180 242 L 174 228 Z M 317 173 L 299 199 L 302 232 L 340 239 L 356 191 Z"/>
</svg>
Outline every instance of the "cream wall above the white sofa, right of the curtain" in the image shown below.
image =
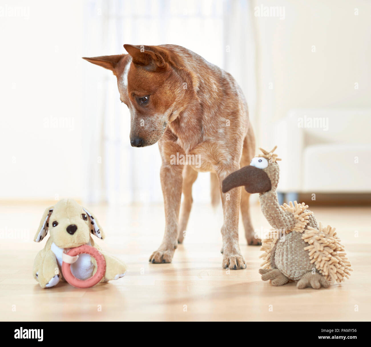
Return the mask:
<svg viewBox="0 0 371 347">
<path fill-rule="evenodd" d="M 273 145 L 272 124 L 290 109 L 371 107 L 371 1 L 253 1 L 261 4 L 284 7 L 285 18 L 254 17 L 258 146 Z"/>
</svg>

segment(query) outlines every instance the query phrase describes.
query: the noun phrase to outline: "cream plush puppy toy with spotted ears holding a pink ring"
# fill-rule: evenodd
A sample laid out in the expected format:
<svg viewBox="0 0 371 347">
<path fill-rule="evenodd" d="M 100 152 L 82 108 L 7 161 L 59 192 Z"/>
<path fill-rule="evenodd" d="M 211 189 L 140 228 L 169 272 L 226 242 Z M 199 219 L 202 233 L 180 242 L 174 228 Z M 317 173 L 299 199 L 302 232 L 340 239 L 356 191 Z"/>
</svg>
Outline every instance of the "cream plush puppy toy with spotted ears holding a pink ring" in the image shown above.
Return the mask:
<svg viewBox="0 0 371 347">
<path fill-rule="evenodd" d="M 34 241 L 43 240 L 48 230 L 50 237 L 33 264 L 33 277 L 40 287 L 54 287 L 61 279 L 75 287 L 91 287 L 98 281 L 117 280 L 125 275 L 125 264 L 95 245 L 90 234 L 103 240 L 104 232 L 96 218 L 75 200 L 63 199 L 48 207 Z"/>
</svg>

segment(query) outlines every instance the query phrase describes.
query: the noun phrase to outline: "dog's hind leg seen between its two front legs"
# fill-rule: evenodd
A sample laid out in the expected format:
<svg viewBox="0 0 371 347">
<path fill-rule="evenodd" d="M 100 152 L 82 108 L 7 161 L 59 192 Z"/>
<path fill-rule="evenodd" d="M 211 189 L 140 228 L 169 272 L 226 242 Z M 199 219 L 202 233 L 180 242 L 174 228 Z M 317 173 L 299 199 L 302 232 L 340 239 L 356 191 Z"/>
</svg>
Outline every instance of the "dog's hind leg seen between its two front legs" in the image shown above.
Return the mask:
<svg viewBox="0 0 371 347">
<path fill-rule="evenodd" d="M 180 220 L 178 226 L 178 243 L 183 243 L 189 214 L 192 208 L 192 185 L 196 181 L 198 172 L 193 170 L 191 166 L 185 165 L 183 170 L 183 203 L 181 206 Z"/>
</svg>

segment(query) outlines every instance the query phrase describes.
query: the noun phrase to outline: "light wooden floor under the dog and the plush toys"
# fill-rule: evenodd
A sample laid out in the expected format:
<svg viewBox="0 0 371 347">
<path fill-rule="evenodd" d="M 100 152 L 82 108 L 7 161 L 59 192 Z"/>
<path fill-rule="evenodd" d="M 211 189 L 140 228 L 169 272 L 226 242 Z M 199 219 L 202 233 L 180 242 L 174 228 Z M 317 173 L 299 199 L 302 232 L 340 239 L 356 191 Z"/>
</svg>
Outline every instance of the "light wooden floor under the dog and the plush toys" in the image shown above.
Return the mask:
<svg viewBox="0 0 371 347">
<path fill-rule="evenodd" d="M 149 264 L 162 240 L 164 212 L 155 206 L 86 206 L 106 233 L 104 250 L 128 265 L 124 278 L 88 289 L 66 283 L 41 289 L 32 264 L 45 240 L 32 241 L 43 204 L 0 206 L 1 321 L 366 321 L 371 319 L 370 208 L 313 209 L 317 220 L 336 227 L 354 272 L 329 289 L 273 287 L 260 279 L 259 247 L 247 246 L 240 226 L 246 270 L 221 268 L 221 208 L 194 205 L 183 245 L 171 264 Z M 268 228 L 253 206 L 257 229 Z M 17 232 L 17 238 L 11 231 Z M 358 236 L 358 237 L 356 237 Z"/>
</svg>

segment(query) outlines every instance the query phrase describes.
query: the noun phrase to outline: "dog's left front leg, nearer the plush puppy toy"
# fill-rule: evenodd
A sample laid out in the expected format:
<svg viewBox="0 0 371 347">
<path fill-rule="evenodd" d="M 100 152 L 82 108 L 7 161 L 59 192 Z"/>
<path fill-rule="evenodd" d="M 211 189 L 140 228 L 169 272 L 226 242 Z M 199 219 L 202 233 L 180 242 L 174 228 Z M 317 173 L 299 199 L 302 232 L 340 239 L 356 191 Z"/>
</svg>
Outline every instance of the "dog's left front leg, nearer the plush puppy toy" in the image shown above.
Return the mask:
<svg viewBox="0 0 371 347">
<path fill-rule="evenodd" d="M 160 247 L 150 257 L 152 263 L 170 263 L 177 248 L 182 171 L 183 165 L 162 163 L 160 176 L 165 205 L 165 235 Z"/>
</svg>

